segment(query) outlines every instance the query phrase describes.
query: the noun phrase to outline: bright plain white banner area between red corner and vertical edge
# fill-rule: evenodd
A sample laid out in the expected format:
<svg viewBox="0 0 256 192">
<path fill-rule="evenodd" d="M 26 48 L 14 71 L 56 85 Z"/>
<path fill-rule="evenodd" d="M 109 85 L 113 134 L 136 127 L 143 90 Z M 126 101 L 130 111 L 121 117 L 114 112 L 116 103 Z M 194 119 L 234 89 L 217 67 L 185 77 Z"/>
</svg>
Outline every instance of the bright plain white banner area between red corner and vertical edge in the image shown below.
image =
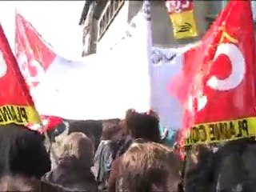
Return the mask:
<svg viewBox="0 0 256 192">
<path fill-rule="evenodd" d="M 39 114 L 84 120 L 123 118 L 129 108 L 150 109 L 150 22 L 142 12 L 134 22 L 138 30 L 108 54 L 80 62 L 57 56 L 31 90 Z"/>
</svg>

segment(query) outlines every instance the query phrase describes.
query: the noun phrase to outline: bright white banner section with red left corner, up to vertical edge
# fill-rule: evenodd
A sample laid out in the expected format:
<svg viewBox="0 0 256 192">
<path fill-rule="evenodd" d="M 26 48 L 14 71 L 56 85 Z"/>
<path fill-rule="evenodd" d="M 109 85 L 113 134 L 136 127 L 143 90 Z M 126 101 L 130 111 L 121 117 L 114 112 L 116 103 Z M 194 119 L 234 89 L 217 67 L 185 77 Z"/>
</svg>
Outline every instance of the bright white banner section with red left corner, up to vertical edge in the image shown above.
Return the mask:
<svg viewBox="0 0 256 192">
<path fill-rule="evenodd" d="M 55 54 L 21 14 L 16 16 L 16 56 L 39 114 L 97 120 L 123 118 L 129 108 L 150 109 L 149 2 L 122 42 L 81 61 Z"/>
</svg>

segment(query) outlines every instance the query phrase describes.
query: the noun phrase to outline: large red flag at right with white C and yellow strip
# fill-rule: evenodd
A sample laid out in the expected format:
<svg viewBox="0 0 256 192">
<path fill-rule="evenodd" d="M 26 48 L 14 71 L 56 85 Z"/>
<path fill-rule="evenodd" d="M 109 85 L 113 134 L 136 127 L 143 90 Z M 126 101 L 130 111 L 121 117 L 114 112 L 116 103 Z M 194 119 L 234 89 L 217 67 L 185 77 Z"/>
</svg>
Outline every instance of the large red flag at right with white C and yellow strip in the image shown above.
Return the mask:
<svg viewBox="0 0 256 192">
<path fill-rule="evenodd" d="M 184 106 L 185 145 L 256 135 L 255 39 L 250 1 L 230 1 L 169 90 Z M 185 143 L 184 143 L 185 142 Z"/>
</svg>

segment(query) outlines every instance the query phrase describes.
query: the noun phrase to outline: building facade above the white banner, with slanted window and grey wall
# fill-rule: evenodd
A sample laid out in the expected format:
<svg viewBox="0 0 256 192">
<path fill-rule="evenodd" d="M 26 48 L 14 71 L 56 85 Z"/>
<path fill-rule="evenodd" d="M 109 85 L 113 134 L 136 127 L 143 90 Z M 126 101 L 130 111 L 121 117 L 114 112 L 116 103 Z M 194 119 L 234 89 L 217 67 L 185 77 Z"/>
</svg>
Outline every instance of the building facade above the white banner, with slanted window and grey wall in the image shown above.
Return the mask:
<svg viewBox="0 0 256 192">
<path fill-rule="evenodd" d="M 121 38 L 126 30 L 127 23 L 138 13 L 142 7 L 142 1 L 125 0 L 97 0 L 94 6 L 93 18 L 90 18 L 90 7 L 88 2 L 82 14 L 80 25 L 84 26 L 83 44 L 85 50 L 83 55 L 109 50 L 113 43 Z M 90 4 L 90 3 L 89 3 Z M 254 19 L 256 22 L 256 2 L 252 2 Z M 184 44 L 198 41 L 209 29 L 210 24 L 226 5 L 226 1 L 194 1 L 194 16 L 198 26 L 198 37 L 185 40 L 176 40 L 173 28 L 167 14 L 165 1 L 151 2 L 152 40 L 155 46 L 170 47 L 182 46 Z M 92 7 L 92 6 L 91 6 Z M 88 17 L 89 16 L 89 17 Z M 88 21 L 92 30 L 88 32 Z M 86 28 L 87 27 L 87 28 Z M 256 30 L 255 30 L 256 31 Z M 87 33 L 87 34 L 86 34 Z M 87 35 L 87 36 L 86 36 Z M 88 35 L 90 38 L 88 38 Z M 88 41 L 91 39 L 91 41 Z M 88 49 L 88 47 L 90 49 Z"/>
</svg>

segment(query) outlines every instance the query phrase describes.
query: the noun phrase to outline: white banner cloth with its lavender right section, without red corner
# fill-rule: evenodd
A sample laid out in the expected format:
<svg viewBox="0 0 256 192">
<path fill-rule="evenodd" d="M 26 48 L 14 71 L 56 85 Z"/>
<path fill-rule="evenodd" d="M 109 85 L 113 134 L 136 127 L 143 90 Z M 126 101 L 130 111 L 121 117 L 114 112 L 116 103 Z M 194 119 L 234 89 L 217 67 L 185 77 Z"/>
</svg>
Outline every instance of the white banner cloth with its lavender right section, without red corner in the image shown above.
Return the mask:
<svg viewBox="0 0 256 192">
<path fill-rule="evenodd" d="M 57 56 L 38 87 L 30 90 L 39 114 L 106 119 L 123 118 L 129 108 L 139 112 L 153 108 L 163 126 L 181 127 L 182 106 L 166 86 L 181 69 L 182 53 L 190 45 L 152 46 L 149 2 L 125 34 L 106 54 L 92 54 L 77 62 Z"/>
</svg>

